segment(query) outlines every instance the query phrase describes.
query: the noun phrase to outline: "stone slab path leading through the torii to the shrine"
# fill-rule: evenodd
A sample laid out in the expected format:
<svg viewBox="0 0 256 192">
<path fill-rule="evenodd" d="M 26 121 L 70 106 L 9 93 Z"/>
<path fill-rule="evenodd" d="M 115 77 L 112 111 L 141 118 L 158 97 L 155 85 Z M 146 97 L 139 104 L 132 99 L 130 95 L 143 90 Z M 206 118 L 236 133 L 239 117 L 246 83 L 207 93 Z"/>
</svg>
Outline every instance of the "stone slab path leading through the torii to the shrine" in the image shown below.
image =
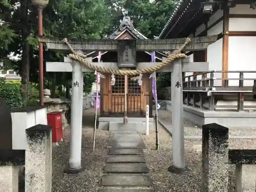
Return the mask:
<svg viewBox="0 0 256 192">
<path fill-rule="evenodd" d="M 140 133 L 112 132 L 100 192 L 153 192 Z"/>
</svg>

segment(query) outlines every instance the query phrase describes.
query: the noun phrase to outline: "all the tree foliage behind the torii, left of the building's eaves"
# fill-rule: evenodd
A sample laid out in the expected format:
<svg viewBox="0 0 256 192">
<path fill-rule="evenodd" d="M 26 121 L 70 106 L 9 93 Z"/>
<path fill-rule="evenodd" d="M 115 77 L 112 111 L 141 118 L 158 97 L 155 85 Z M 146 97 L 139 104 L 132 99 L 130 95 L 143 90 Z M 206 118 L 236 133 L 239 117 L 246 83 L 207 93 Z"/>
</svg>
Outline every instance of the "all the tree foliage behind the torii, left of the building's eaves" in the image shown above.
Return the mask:
<svg viewBox="0 0 256 192">
<path fill-rule="evenodd" d="M 158 35 L 174 9 L 175 0 L 55 0 L 43 11 L 43 32 L 49 38 L 105 38 L 119 26 L 122 10 L 148 38 Z M 28 82 L 38 83 L 37 8 L 29 0 L 0 1 L 0 62 L 22 76 L 23 93 L 31 99 Z M 10 53 L 17 60 L 10 59 Z M 45 88 L 65 85 L 71 73 L 48 73 L 46 61 L 63 61 L 63 53 L 44 49 Z M 90 92 L 95 75 L 84 75 L 84 91 Z M 38 86 L 37 86 L 38 89 Z M 36 99 L 35 99 L 36 100 Z"/>
</svg>

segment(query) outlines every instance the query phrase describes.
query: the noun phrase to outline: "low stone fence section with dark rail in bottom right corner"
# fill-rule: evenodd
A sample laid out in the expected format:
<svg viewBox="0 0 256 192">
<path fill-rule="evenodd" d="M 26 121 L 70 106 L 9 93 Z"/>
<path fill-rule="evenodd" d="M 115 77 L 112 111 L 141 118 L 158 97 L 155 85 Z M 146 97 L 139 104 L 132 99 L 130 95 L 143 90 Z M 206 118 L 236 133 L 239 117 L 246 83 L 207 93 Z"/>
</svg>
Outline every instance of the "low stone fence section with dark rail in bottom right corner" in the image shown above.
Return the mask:
<svg viewBox="0 0 256 192">
<path fill-rule="evenodd" d="M 256 150 L 229 150 L 228 157 L 229 163 L 236 165 L 234 170 L 236 192 L 255 192 Z M 246 173 L 243 169 L 247 169 Z M 232 191 L 232 188 L 229 191 Z"/>
</svg>

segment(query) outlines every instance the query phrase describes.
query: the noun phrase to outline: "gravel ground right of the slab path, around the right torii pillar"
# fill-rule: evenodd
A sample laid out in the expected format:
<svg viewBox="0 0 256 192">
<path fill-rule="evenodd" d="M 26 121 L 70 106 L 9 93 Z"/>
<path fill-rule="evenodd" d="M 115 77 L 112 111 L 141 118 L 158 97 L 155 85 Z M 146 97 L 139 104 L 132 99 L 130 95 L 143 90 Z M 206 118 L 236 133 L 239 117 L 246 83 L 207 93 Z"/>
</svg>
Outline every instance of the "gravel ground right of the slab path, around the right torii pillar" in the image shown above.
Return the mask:
<svg viewBox="0 0 256 192">
<path fill-rule="evenodd" d="M 185 161 L 190 171 L 183 175 L 176 175 L 169 173 L 167 170 L 172 164 L 172 138 L 162 126 L 159 125 L 159 151 L 154 149 L 155 133 L 153 131 L 148 136 L 143 135 L 143 138 L 147 146 L 144 153 L 145 159 L 151 171 L 155 192 L 200 191 L 201 156 L 194 152 L 193 147 L 189 146 L 189 142 L 185 141 Z"/>
</svg>

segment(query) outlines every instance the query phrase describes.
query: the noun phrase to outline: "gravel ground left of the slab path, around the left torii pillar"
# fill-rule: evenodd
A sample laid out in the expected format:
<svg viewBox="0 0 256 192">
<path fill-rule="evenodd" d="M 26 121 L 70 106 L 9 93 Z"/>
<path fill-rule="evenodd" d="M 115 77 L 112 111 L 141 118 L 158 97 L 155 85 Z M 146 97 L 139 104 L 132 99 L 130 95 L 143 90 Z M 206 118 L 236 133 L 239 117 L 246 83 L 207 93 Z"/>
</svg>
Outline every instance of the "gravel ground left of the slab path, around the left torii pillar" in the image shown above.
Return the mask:
<svg viewBox="0 0 256 192">
<path fill-rule="evenodd" d="M 63 173 L 69 160 L 69 136 L 70 129 L 63 133 L 63 142 L 55 146 L 52 151 L 52 191 L 98 191 L 102 175 L 103 166 L 106 159 L 106 144 L 110 132 L 97 130 L 96 150 L 92 151 L 93 146 L 93 125 L 94 109 L 88 109 L 83 114 L 82 129 L 82 166 L 86 169 L 77 175 Z"/>
</svg>

